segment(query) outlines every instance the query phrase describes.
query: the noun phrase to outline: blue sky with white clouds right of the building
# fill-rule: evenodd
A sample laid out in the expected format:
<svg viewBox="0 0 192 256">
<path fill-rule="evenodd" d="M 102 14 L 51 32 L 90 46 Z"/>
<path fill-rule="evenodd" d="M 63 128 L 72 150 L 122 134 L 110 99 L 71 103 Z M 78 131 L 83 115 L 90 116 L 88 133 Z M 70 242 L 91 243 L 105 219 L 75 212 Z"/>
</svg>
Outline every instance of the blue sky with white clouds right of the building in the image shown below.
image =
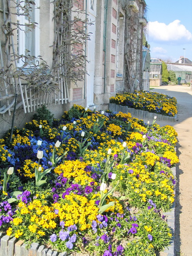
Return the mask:
<svg viewBox="0 0 192 256">
<path fill-rule="evenodd" d="M 145 0 L 151 58 L 192 61 L 192 0 Z M 185 49 L 185 50 L 184 50 Z"/>
</svg>

